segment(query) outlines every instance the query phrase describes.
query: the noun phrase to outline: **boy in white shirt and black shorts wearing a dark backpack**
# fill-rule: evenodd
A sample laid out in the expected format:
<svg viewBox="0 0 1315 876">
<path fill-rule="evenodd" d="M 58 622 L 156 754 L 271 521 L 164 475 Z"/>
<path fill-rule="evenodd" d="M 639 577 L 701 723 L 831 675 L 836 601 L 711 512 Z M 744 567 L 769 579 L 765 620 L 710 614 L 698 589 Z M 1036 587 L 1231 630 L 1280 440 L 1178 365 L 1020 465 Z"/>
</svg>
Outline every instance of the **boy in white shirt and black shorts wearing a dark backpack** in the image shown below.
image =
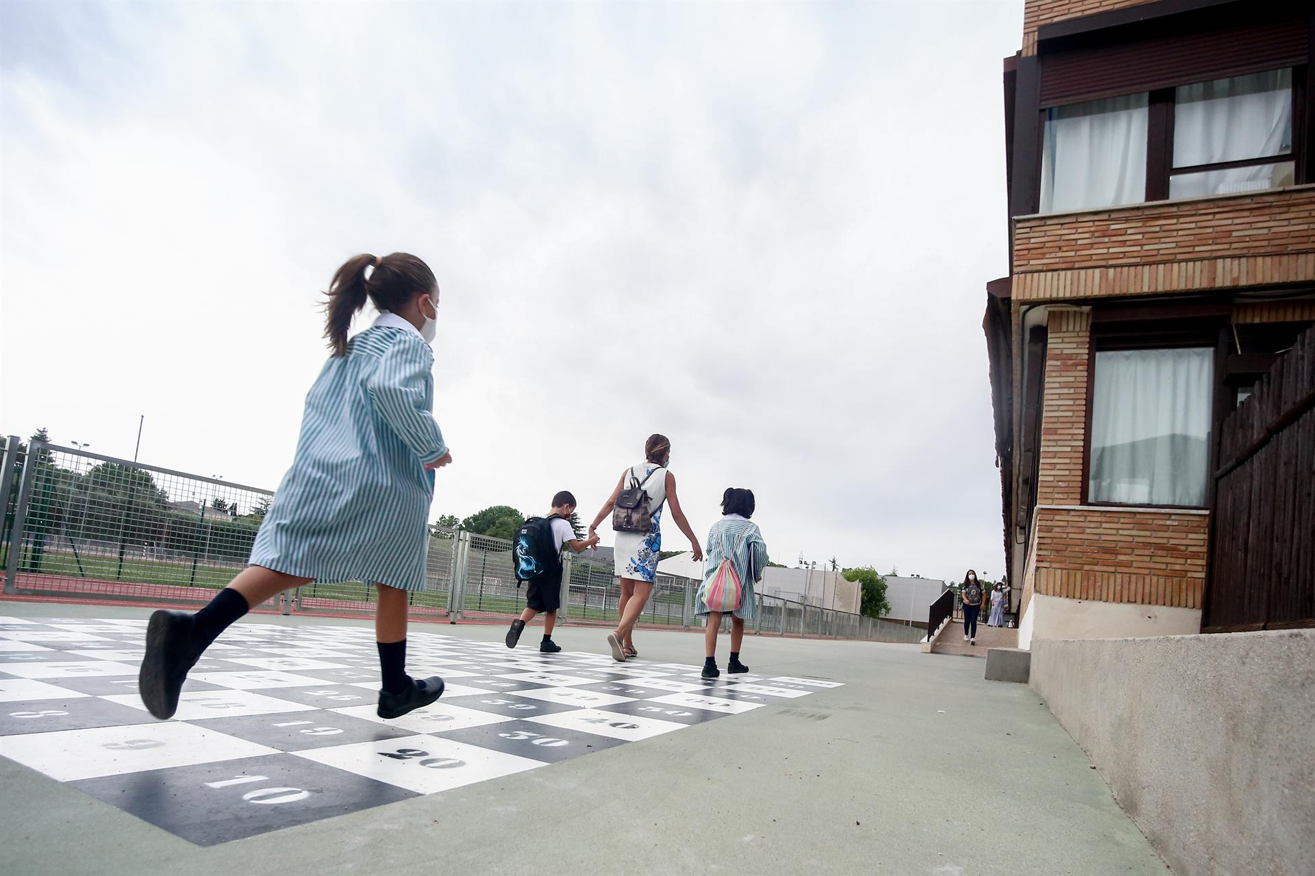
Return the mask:
<svg viewBox="0 0 1315 876">
<path fill-rule="evenodd" d="M 506 633 L 506 646 L 515 647 L 521 641 L 525 625 L 535 615 L 543 615 L 543 641 L 539 651 L 556 654 L 562 646 L 552 641 L 552 626 L 558 623 L 558 608 L 562 605 L 562 548 L 580 553 L 598 544 L 593 535 L 580 540 L 571 528 L 571 515 L 576 500 L 567 490 L 552 496 L 552 511 L 546 517 L 530 517 L 515 532 L 513 553 L 515 556 L 515 578 L 527 584 L 525 611 L 512 621 Z"/>
</svg>

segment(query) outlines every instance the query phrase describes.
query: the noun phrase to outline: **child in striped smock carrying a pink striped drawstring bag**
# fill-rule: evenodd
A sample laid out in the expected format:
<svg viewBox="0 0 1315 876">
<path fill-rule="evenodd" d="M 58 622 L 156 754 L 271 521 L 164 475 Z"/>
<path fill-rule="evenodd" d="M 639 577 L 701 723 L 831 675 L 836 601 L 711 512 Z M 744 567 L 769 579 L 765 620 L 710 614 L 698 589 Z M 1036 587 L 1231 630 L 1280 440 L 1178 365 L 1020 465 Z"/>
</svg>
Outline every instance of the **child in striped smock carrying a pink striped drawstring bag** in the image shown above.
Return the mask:
<svg viewBox="0 0 1315 876">
<path fill-rule="evenodd" d="M 739 649 L 744 641 L 744 621 L 757 620 L 757 594 L 753 584 L 767 567 L 767 544 L 753 516 L 753 491 L 729 487 L 722 494 L 722 519 L 707 532 L 707 561 L 704 583 L 696 598 L 696 613 L 707 619 L 707 658 L 704 678 L 717 678 L 717 633 L 722 615 L 731 615 L 731 659 L 726 671 L 747 672 Z"/>
</svg>

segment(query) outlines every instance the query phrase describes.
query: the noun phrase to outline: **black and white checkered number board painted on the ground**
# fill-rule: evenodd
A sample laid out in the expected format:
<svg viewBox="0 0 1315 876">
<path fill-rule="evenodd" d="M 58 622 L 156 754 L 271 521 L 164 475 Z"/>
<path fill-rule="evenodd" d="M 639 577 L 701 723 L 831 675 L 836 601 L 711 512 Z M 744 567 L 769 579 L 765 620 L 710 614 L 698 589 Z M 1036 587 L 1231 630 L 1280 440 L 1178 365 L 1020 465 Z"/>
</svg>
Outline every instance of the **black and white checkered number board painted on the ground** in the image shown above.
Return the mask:
<svg viewBox="0 0 1315 876">
<path fill-rule="evenodd" d="M 413 628 L 408 671 L 447 691 L 383 721 L 372 629 L 238 624 L 192 670 L 178 714 L 155 721 L 137 695 L 145 628 L 0 616 L 0 755 L 201 846 L 840 687 L 539 654 L 533 628 L 514 651 Z"/>
</svg>

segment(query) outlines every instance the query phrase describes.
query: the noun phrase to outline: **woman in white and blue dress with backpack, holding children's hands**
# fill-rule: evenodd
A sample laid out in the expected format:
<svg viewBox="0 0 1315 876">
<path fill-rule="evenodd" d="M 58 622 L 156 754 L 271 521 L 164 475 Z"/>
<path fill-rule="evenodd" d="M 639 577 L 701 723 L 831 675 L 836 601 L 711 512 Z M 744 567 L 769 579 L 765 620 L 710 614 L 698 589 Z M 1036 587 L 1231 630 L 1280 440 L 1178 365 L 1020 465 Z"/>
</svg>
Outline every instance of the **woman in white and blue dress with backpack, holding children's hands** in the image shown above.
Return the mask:
<svg viewBox="0 0 1315 876">
<path fill-rule="evenodd" d="M 634 630 L 648 596 L 658 579 L 658 559 L 661 550 L 661 512 L 671 503 L 671 516 L 680 531 L 689 538 L 693 558 L 702 559 L 704 549 L 698 545 L 689 520 L 680 510 L 676 496 L 676 475 L 667 470 L 671 461 L 671 441 L 664 435 L 650 435 L 644 443 L 644 461 L 621 473 L 611 498 L 598 511 L 589 525 L 592 538 L 598 524 L 611 514 L 611 528 L 615 538 L 615 571 L 621 578 L 621 607 L 617 630 L 608 634 L 608 647 L 617 662 L 638 657 Z"/>
</svg>

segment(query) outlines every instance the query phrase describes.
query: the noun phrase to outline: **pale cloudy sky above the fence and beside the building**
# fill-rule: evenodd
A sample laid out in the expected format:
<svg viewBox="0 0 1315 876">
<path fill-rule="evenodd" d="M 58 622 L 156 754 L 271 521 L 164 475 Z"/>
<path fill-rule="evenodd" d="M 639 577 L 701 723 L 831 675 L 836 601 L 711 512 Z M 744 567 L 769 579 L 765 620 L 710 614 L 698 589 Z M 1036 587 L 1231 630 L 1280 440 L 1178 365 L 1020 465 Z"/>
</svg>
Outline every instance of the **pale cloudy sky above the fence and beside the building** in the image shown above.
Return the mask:
<svg viewBox="0 0 1315 876">
<path fill-rule="evenodd" d="M 356 252 L 442 286 L 434 516 L 998 573 L 985 282 L 1022 3 L 0 5 L 0 429 L 276 486 Z M 685 540 L 668 523 L 667 548 Z"/>
</svg>

